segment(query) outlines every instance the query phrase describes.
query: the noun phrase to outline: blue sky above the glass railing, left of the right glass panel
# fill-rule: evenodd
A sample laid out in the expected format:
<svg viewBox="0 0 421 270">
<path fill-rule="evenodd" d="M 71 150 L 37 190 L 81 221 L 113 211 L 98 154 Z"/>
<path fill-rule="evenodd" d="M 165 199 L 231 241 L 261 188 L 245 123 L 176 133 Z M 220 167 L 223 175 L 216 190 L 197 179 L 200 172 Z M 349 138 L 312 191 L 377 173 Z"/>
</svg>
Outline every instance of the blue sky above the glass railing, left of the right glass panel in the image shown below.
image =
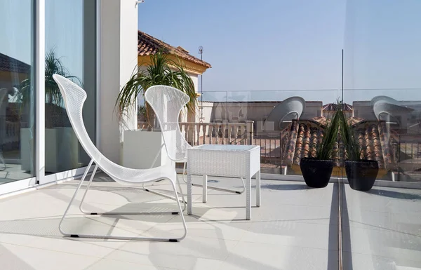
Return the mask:
<svg viewBox="0 0 421 270">
<path fill-rule="evenodd" d="M 203 46 L 203 90 L 340 86 L 345 0 L 146 0 L 138 12 L 140 30 L 195 56 Z"/>
</svg>

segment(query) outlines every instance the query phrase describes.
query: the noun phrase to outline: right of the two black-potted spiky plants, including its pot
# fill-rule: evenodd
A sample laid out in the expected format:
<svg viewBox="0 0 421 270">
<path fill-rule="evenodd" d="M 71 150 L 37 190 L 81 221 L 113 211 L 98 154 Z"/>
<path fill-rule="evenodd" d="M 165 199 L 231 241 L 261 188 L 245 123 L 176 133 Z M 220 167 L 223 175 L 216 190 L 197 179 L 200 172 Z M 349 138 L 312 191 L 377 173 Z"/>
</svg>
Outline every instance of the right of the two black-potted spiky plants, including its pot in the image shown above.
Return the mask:
<svg viewBox="0 0 421 270">
<path fill-rule="evenodd" d="M 358 136 L 352 129 L 351 121 L 341 114 L 340 135 L 345 145 L 345 172 L 349 187 L 359 191 L 370 190 L 375 182 L 379 165 L 377 161 L 368 160 L 359 143 Z"/>
</svg>

